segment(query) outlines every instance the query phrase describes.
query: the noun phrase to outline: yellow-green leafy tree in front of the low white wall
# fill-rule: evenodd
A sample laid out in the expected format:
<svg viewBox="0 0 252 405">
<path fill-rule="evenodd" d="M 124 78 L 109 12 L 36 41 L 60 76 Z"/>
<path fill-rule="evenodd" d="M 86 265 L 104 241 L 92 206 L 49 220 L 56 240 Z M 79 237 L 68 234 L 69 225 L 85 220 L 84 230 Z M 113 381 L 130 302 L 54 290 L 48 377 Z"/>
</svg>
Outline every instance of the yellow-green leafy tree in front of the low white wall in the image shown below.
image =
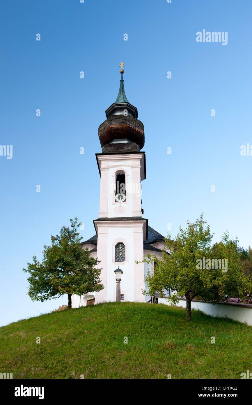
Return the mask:
<svg viewBox="0 0 252 405">
<path fill-rule="evenodd" d="M 237 241 L 225 233 L 222 241 L 211 247 L 213 235 L 205 224 L 201 214 L 194 224 L 187 222 L 185 230 L 180 226 L 175 241 L 168 234 L 161 259 L 149 254 L 143 258 L 147 263 L 156 262 L 155 272 L 147 271 L 144 294 L 159 292 L 163 296 L 170 289 L 172 303 L 184 296 L 187 320 L 191 320 L 191 301 L 195 297 L 216 303 L 228 294 L 244 296 L 252 289 L 239 265 Z"/>
</svg>

